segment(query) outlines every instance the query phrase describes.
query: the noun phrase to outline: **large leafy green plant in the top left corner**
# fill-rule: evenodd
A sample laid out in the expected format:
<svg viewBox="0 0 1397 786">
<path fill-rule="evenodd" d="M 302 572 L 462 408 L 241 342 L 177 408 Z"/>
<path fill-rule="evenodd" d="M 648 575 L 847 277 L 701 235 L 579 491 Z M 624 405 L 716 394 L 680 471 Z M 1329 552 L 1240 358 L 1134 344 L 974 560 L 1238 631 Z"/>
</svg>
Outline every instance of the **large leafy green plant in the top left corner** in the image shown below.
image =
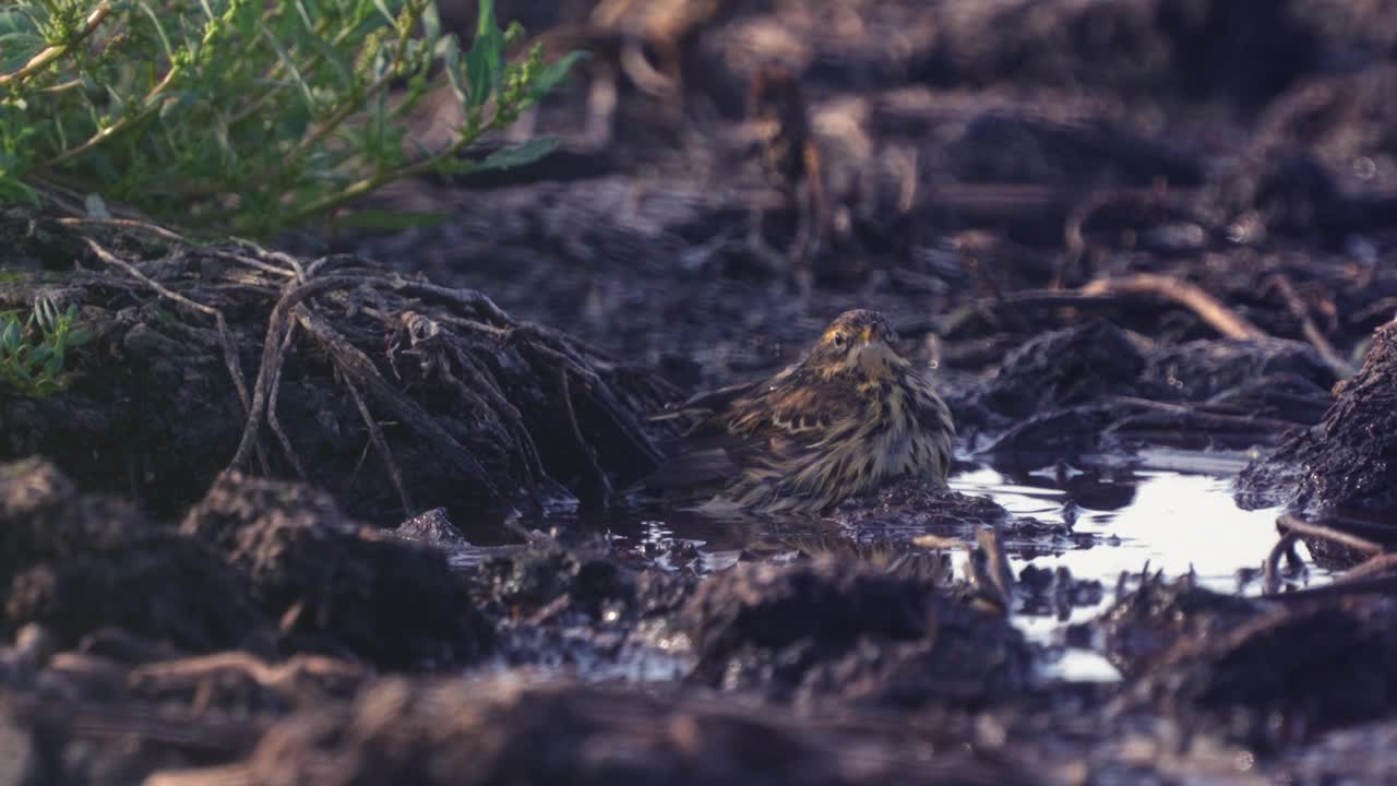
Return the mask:
<svg viewBox="0 0 1397 786">
<path fill-rule="evenodd" d="M 580 57 L 509 59 L 481 0 L 468 52 L 433 0 L 14 0 L 0 8 L 0 200 L 49 186 L 186 227 L 271 235 L 391 180 L 527 164 L 483 158 Z M 464 123 L 429 150 L 407 119 L 434 88 Z"/>
</svg>

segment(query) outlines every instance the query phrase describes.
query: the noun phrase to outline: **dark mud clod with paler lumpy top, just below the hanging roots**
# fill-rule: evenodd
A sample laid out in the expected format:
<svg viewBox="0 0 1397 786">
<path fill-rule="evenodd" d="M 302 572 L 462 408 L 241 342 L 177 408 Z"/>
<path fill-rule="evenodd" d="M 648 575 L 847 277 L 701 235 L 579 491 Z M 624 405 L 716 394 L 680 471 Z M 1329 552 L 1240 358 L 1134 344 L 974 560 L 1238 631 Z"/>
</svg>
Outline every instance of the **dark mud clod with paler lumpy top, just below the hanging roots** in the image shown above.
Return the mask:
<svg viewBox="0 0 1397 786">
<path fill-rule="evenodd" d="M 490 646 L 489 624 L 441 551 L 345 519 L 326 492 L 232 473 L 180 531 L 251 579 L 286 649 L 420 669 Z"/>
</svg>

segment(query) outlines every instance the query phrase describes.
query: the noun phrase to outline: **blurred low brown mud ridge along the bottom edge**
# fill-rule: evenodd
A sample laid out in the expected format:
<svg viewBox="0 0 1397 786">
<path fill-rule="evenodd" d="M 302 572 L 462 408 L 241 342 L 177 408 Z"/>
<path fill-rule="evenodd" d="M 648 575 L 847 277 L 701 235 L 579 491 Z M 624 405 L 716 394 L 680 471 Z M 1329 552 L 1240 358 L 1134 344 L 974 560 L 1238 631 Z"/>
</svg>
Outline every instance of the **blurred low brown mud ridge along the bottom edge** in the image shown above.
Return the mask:
<svg viewBox="0 0 1397 786">
<path fill-rule="evenodd" d="M 638 691 L 384 681 L 353 708 L 274 727 L 249 773 L 268 786 L 1025 782 L 993 755 L 946 745 L 918 761 L 923 745 L 868 731 Z"/>
</svg>

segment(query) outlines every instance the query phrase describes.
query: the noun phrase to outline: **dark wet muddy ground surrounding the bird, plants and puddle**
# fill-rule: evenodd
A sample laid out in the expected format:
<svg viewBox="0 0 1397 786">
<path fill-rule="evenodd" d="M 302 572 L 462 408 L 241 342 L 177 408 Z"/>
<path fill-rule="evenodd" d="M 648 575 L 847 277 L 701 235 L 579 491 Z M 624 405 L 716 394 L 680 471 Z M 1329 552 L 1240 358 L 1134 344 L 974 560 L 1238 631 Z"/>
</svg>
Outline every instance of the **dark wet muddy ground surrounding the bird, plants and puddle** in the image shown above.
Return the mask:
<svg viewBox="0 0 1397 786">
<path fill-rule="evenodd" d="M 594 57 L 511 131 L 552 158 L 377 197 L 439 225 L 0 215 L 0 308 L 94 331 L 0 387 L 0 782 L 1397 778 L 1397 4 L 500 6 Z M 915 483 L 717 571 L 608 537 L 676 516 L 620 494 L 648 414 L 854 306 L 963 464 L 1250 452 L 1259 587 L 1009 586 L 1090 536 Z M 1122 678 L 1048 677 L 1016 620 L 1102 597 Z"/>
</svg>

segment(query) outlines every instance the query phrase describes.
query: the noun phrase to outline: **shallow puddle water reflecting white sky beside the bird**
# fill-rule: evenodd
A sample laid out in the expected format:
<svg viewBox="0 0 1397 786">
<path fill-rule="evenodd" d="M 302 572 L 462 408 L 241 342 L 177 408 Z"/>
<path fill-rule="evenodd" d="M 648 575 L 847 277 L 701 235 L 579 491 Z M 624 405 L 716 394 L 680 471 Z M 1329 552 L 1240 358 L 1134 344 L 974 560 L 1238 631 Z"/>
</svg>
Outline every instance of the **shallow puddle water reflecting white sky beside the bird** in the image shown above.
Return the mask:
<svg viewBox="0 0 1397 786">
<path fill-rule="evenodd" d="M 1060 643 L 1066 625 L 1091 620 L 1112 601 L 1122 572 L 1139 573 L 1146 564 L 1166 576 L 1192 569 L 1204 586 L 1217 592 L 1260 592 L 1259 582 L 1241 582 L 1239 571 L 1260 568 L 1277 538 L 1278 510 L 1242 510 L 1232 502 L 1232 477 L 1246 459 L 1242 453 L 1171 450 L 1143 452 L 1129 463 L 1113 457 L 1102 462 L 1108 469 L 1060 463 L 1031 470 L 972 466 L 953 476 L 950 485 L 964 494 L 988 495 L 1016 516 L 1065 523 L 1080 536 L 1051 543 L 1016 541 L 1010 536 L 1004 541 L 1016 573 L 1030 564 L 1046 569 L 1066 566 L 1077 579 L 1105 585 L 1101 604 L 1073 608 L 1066 621 L 1016 615 L 1025 635 L 1053 645 Z M 548 523 L 529 526 L 546 529 Z M 652 555 L 661 566 L 700 572 L 725 569 L 743 557 L 782 558 L 792 552 L 793 544 L 824 543 L 837 548 L 842 543 L 854 548 L 854 541 L 905 541 L 922 534 L 895 527 L 849 533 L 831 522 L 715 522 L 679 512 L 609 515 L 594 522 L 569 520 L 564 526 L 606 531 L 624 547 Z M 683 548 L 675 548 L 676 543 Z M 957 571 L 961 568 L 957 562 Z M 1309 579 L 1316 578 L 1326 576 L 1312 569 Z M 1076 680 L 1119 677 L 1099 655 L 1081 649 L 1062 650 L 1062 659 L 1048 671 Z"/>
</svg>

